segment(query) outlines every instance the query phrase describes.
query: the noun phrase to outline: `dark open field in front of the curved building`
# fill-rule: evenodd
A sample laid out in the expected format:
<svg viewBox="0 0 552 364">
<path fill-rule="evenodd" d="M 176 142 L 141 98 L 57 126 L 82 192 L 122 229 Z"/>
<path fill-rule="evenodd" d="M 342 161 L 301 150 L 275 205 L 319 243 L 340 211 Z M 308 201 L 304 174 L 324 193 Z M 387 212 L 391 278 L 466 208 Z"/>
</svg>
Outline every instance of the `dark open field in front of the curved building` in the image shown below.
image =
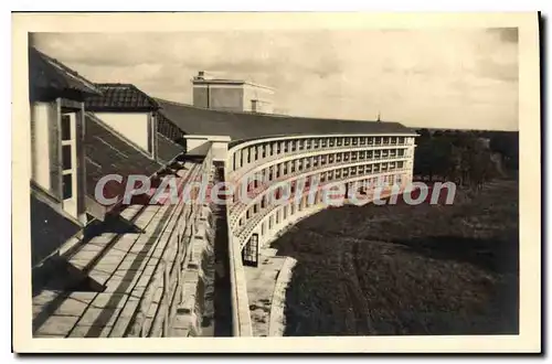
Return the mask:
<svg viewBox="0 0 552 364">
<path fill-rule="evenodd" d="M 272 247 L 298 260 L 285 335 L 518 333 L 517 182 L 325 210 Z"/>
</svg>

